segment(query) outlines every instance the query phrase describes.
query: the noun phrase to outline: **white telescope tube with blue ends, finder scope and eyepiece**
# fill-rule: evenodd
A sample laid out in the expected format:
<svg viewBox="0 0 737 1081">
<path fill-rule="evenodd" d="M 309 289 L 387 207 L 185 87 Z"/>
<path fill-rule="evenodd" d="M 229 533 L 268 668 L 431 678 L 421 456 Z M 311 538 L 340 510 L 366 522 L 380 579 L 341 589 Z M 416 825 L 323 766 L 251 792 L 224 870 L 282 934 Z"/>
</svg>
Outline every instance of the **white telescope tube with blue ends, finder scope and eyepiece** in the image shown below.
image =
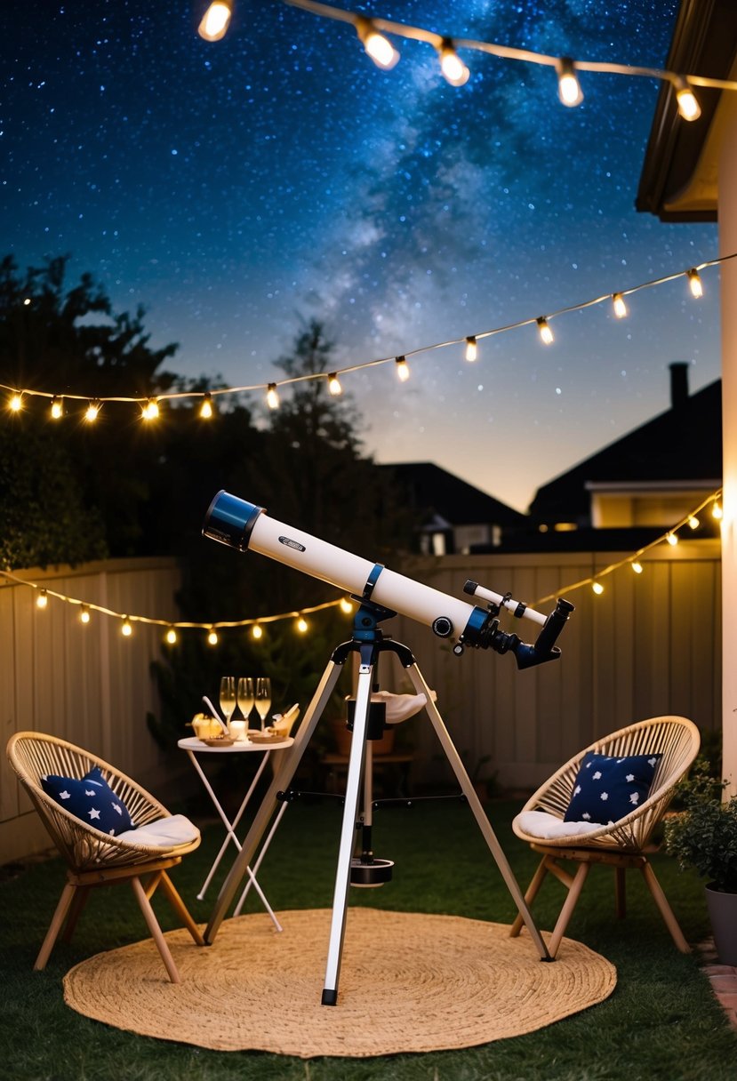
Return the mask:
<svg viewBox="0 0 737 1081">
<path fill-rule="evenodd" d="M 464 590 L 487 601 L 487 605 L 469 604 L 390 571 L 383 563 L 372 563 L 285 525 L 270 518 L 263 507 L 225 491 L 218 492 L 211 503 L 202 533 L 238 551 L 260 552 L 285 566 L 327 582 L 360 602 L 380 605 L 387 615 L 401 613 L 416 619 L 430 627 L 439 638 L 455 639 L 453 652 L 457 656 L 466 646 L 471 646 L 500 654 L 511 652 L 520 669 L 555 660 L 561 654 L 555 641 L 574 611 L 573 604 L 559 598 L 553 611 L 546 616 L 513 600 L 509 593 L 495 593 L 475 582 L 467 582 Z M 519 619 L 527 618 L 541 625 L 534 644 L 499 629 L 497 616 L 501 609 Z"/>
</svg>

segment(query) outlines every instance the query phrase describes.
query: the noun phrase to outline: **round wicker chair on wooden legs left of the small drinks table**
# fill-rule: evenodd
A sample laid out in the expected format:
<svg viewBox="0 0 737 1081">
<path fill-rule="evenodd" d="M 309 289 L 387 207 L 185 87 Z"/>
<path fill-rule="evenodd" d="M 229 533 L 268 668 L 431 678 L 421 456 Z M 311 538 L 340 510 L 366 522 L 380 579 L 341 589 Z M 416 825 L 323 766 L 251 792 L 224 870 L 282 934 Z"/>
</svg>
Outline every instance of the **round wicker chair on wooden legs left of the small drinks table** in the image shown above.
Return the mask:
<svg viewBox="0 0 737 1081">
<path fill-rule="evenodd" d="M 103 759 L 65 739 L 38 732 L 17 732 L 8 744 L 8 758 L 67 863 L 66 885 L 34 967 L 39 970 L 45 966 L 65 919 L 64 938 L 68 940 L 71 937 L 92 889 L 130 882 L 169 978 L 174 984 L 179 983 L 179 974 L 150 898 L 160 885 L 195 942 L 204 946 L 197 924 L 166 873 L 171 867 L 182 863 L 184 855 L 198 848 L 199 830 L 183 816 L 170 815 L 149 792 Z M 103 833 L 66 811 L 41 787 L 41 777 L 57 774 L 82 778 L 94 766 L 100 768 L 107 784 L 126 805 L 136 827 L 133 832 L 148 827 L 142 831 L 138 841 Z M 160 824 L 159 827 L 156 823 Z M 180 827 L 177 831 L 179 839 L 156 836 L 157 832 L 166 832 L 168 825 L 170 831 L 174 825 Z M 144 878 L 147 879 L 145 884 L 142 882 Z"/>
</svg>

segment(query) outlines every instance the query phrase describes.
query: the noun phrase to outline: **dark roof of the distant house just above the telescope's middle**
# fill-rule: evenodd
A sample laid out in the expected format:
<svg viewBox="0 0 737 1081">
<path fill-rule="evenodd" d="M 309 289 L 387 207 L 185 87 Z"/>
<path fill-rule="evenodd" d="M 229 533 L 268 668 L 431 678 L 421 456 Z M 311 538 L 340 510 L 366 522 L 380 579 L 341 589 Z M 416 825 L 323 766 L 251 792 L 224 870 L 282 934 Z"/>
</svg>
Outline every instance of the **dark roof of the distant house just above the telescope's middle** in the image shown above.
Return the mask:
<svg viewBox="0 0 737 1081">
<path fill-rule="evenodd" d="M 525 515 L 486 495 L 478 488 L 432 462 L 401 462 L 383 465 L 406 492 L 412 510 L 425 515 L 426 522 L 453 525 L 521 525 Z"/>
</svg>

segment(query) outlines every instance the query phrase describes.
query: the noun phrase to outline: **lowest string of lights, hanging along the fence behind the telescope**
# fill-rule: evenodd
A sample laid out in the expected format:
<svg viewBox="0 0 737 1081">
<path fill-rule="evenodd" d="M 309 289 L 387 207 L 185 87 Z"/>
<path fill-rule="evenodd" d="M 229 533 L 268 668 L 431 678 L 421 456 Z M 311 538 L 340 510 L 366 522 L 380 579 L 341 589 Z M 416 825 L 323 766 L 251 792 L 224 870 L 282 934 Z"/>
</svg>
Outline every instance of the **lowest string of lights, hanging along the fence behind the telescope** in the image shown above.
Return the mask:
<svg viewBox="0 0 737 1081">
<path fill-rule="evenodd" d="M 697 507 L 695 507 L 687 515 L 684 515 L 683 518 L 681 518 L 674 525 L 672 525 L 660 536 L 656 537 L 656 539 L 651 540 L 646 545 L 643 545 L 642 548 L 638 548 L 636 551 L 631 552 L 624 559 L 619 559 L 614 563 L 609 563 L 608 566 L 603 568 L 601 571 L 598 571 L 595 574 L 592 574 L 589 577 L 581 578 L 578 582 L 573 582 L 570 585 L 563 586 L 562 588 L 558 589 L 554 593 L 548 593 L 545 597 L 538 598 L 534 602 L 533 606 L 538 609 L 540 605 L 547 603 L 548 601 L 555 600 L 558 597 L 561 597 L 564 593 L 571 593 L 576 589 L 582 589 L 585 586 L 591 586 L 594 583 L 600 582 L 601 578 L 604 578 L 607 575 L 613 574 L 615 571 L 618 571 L 622 566 L 636 563 L 646 552 L 651 551 L 653 548 L 656 548 L 660 544 L 667 543 L 668 538 L 674 537 L 678 531 L 682 529 L 684 525 L 689 525 L 692 521 L 696 520 L 696 516 L 700 513 L 700 511 L 704 510 L 705 507 L 708 507 L 709 504 L 712 504 L 712 512 L 715 511 L 716 508 L 719 507 L 718 501 L 720 499 L 721 495 L 722 495 L 722 489 L 720 488 L 715 492 L 712 492 L 710 495 L 708 495 L 705 499 L 702 499 Z M 715 515 L 714 517 L 718 516 Z M 22 578 L 19 575 L 13 574 L 12 571 L 0 571 L 0 576 L 2 576 L 10 583 L 13 583 L 14 585 L 25 586 L 29 589 L 36 590 L 39 596 L 43 595 L 46 598 L 53 597 L 56 600 L 63 601 L 67 604 L 77 605 L 80 608 L 81 611 L 97 612 L 100 615 L 109 616 L 110 618 L 113 619 L 120 619 L 123 622 L 123 627 L 128 625 L 129 629 L 125 631 L 125 633 L 128 635 L 131 633 L 131 626 L 136 623 L 153 625 L 157 627 L 164 627 L 166 628 L 168 631 L 202 630 L 202 631 L 207 631 L 210 635 L 213 635 L 218 630 L 229 630 L 241 627 L 256 627 L 256 626 L 260 627 L 263 624 L 276 623 L 281 619 L 300 619 L 304 618 L 306 615 L 311 615 L 314 612 L 323 612 L 326 609 L 331 608 L 340 606 L 343 611 L 348 611 L 348 606 L 350 604 L 350 602 L 347 601 L 345 597 L 341 597 L 339 600 L 336 601 L 324 601 L 322 604 L 313 604 L 310 608 L 303 608 L 299 610 L 293 610 L 291 612 L 279 612 L 273 615 L 254 616 L 247 619 L 216 619 L 216 620 L 209 620 L 207 623 L 191 623 L 187 620 L 161 619 L 151 616 L 131 615 L 130 613 L 116 612 L 112 609 L 105 608 L 102 604 L 95 604 L 92 601 L 83 601 L 78 597 L 70 597 L 67 593 L 62 593 L 54 589 L 49 589 L 46 586 L 43 586 L 38 582 L 31 582 L 27 578 Z M 352 605 L 350 605 L 350 608 L 352 610 Z"/>
</svg>

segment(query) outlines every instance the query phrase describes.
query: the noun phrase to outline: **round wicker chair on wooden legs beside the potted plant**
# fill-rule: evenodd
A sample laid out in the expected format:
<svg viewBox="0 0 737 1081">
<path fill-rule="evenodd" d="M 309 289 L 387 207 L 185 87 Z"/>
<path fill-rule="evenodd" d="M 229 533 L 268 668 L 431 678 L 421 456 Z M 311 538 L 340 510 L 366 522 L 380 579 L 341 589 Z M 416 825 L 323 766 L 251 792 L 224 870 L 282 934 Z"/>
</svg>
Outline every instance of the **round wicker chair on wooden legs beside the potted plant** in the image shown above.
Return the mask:
<svg viewBox="0 0 737 1081">
<path fill-rule="evenodd" d="M 689 952 L 688 944 L 644 850 L 670 803 L 676 783 L 687 773 L 698 749 L 698 729 L 684 717 L 655 717 L 640 721 L 586 747 L 527 800 L 514 818 L 512 829 L 535 852 L 540 853 L 542 859 L 530 883 L 525 900 L 528 905 L 532 904 L 548 872 L 568 891 L 548 943 L 551 957 L 558 951 L 592 864 L 614 867 L 618 917 L 625 916 L 625 872 L 633 867 L 641 870 L 673 942 L 682 952 Z M 573 795 L 581 759 L 589 751 L 616 758 L 659 752 L 662 758 L 656 768 L 647 799 L 635 811 L 613 825 L 595 826 L 581 831 L 580 824 L 575 827 L 564 823 L 563 817 Z M 575 875 L 560 866 L 565 860 L 578 864 Z M 510 934 L 519 935 L 521 929 L 522 919 L 518 916 Z"/>
</svg>

